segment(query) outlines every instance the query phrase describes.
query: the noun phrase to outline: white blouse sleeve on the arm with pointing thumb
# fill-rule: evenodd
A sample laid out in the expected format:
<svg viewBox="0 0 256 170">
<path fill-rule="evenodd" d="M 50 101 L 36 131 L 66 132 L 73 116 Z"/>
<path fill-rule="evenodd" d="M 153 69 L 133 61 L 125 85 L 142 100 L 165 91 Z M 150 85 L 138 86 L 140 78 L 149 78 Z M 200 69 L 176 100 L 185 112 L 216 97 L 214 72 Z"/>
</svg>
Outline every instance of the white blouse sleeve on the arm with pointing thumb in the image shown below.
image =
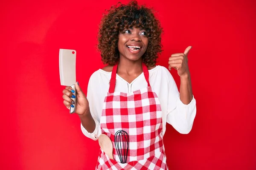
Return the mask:
<svg viewBox="0 0 256 170">
<path fill-rule="evenodd" d="M 195 119 L 195 98 L 193 96 L 188 105 L 183 104 L 175 80 L 170 73 L 168 73 L 168 79 L 167 123 L 172 125 L 179 133 L 187 134 L 191 131 Z"/>
</svg>

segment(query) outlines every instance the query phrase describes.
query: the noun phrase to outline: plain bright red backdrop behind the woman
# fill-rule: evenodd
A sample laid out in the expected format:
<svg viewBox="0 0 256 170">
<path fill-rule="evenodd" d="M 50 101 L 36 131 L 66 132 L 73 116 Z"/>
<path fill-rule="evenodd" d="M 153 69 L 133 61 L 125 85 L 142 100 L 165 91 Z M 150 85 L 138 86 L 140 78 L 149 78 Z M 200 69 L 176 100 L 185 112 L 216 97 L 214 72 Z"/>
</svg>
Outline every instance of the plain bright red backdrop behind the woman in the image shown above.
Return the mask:
<svg viewBox="0 0 256 170">
<path fill-rule="evenodd" d="M 104 10 L 117 2 L 1 2 L 0 169 L 95 168 L 98 142 L 82 134 L 79 117 L 70 115 L 62 103 L 58 51 L 77 51 L 76 78 L 87 92 L 90 75 L 103 66 L 95 48 L 99 22 Z M 256 169 L 256 1 L 146 4 L 158 11 L 164 28 L 159 65 L 167 67 L 172 53 L 193 46 L 188 57 L 197 115 L 187 135 L 167 125 L 169 168 Z M 171 73 L 179 86 L 177 71 Z"/>
</svg>

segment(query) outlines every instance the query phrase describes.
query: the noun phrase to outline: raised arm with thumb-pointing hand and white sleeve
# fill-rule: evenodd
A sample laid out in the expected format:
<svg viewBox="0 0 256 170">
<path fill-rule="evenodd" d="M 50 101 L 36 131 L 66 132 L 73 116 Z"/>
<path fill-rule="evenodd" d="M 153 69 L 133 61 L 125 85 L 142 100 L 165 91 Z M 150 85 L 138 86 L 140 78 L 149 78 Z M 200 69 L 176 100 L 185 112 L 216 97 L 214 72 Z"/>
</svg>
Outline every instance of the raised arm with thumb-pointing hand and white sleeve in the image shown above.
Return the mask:
<svg viewBox="0 0 256 170">
<path fill-rule="evenodd" d="M 187 55 L 192 47 L 186 48 L 184 53 L 172 54 L 169 58 L 169 69 L 175 68 L 180 76 L 180 93 L 177 85 L 171 77 L 169 80 L 169 100 L 168 101 L 167 122 L 170 123 L 178 132 L 187 134 L 191 131 L 196 114 L 196 102 L 192 93 L 191 78 L 188 67 Z M 175 85 L 173 85 L 175 84 Z M 170 86 L 171 85 L 171 86 Z"/>
</svg>

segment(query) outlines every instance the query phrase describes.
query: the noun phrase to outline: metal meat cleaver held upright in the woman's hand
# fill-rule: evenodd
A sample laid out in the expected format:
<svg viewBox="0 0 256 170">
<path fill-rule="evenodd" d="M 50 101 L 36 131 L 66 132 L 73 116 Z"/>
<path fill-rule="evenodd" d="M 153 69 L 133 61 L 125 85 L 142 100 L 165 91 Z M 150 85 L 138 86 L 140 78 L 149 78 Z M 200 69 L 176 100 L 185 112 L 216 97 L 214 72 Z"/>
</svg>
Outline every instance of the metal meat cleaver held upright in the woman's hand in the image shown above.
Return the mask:
<svg viewBox="0 0 256 170">
<path fill-rule="evenodd" d="M 76 50 L 60 49 L 59 52 L 59 70 L 61 85 L 70 86 L 74 89 L 76 96 Z M 70 106 L 70 113 L 76 111 L 76 98 L 71 99 L 75 102 L 74 107 Z"/>
</svg>

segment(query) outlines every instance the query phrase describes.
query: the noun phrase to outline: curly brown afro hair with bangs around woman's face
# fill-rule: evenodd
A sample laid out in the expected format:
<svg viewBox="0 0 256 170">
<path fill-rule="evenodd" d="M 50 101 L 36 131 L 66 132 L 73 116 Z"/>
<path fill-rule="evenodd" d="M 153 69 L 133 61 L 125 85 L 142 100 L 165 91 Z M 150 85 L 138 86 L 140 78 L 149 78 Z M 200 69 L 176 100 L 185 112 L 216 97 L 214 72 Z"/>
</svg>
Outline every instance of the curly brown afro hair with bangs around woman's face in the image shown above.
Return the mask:
<svg viewBox="0 0 256 170">
<path fill-rule="evenodd" d="M 116 64 L 119 60 L 118 35 L 124 29 L 134 26 L 147 31 L 148 48 L 142 56 L 143 62 L 147 66 L 155 65 L 158 54 L 162 51 L 163 28 L 159 20 L 154 17 L 151 9 L 139 6 L 137 1 L 131 1 L 127 5 L 118 4 L 103 15 L 99 25 L 98 49 L 102 62 L 108 65 Z"/>
</svg>

